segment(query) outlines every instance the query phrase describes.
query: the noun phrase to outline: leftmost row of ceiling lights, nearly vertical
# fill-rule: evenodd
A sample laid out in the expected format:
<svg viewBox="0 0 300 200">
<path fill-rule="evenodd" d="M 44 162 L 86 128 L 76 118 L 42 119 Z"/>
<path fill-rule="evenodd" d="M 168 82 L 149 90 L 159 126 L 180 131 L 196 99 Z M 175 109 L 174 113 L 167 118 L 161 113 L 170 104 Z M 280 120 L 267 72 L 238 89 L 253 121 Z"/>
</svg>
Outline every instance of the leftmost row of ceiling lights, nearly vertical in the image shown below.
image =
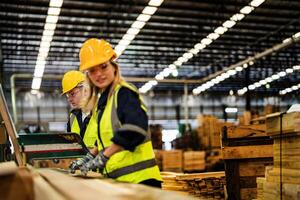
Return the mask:
<svg viewBox="0 0 300 200">
<path fill-rule="evenodd" d="M 62 4 L 63 0 L 50 0 L 46 23 L 44 25 L 43 36 L 40 43 L 39 54 L 36 60 L 33 80 L 31 84 L 32 93 L 37 93 L 41 87 L 46 60 L 48 57 Z"/>
</svg>

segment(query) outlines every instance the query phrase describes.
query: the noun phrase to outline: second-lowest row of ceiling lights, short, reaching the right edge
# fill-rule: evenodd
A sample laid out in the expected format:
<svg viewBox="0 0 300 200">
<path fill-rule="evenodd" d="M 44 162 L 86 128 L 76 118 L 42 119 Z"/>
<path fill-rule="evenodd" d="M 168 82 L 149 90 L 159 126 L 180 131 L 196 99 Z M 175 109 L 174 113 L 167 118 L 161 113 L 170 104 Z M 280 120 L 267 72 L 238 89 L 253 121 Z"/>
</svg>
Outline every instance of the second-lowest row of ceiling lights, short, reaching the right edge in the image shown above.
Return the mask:
<svg viewBox="0 0 300 200">
<path fill-rule="evenodd" d="M 257 81 L 247 87 L 244 87 L 240 90 L 237 91 L 238 95 L 243 95 L 245 94 L 247 91 L 249 90 L 255 90 L 256 88 L 259 88 L 261 86 L 264 86 L 264 85 L 267 85 L 275 80 L 278 80 L 280 78 L 283 78 L 285 76 L 287 76 L 288 74 L 291 74 L 291 73 L 294 73 L 296 71 L 300 70 L 300 65 L 295 65 L 293 66 L 292 68 L 287 68 L 286 70 L 284 71 L 280 71 L 276 74 L 273 74 L 272 76 L 269 76 L 265 79 L 262 79 L 260 81 Z"/>
</svg>

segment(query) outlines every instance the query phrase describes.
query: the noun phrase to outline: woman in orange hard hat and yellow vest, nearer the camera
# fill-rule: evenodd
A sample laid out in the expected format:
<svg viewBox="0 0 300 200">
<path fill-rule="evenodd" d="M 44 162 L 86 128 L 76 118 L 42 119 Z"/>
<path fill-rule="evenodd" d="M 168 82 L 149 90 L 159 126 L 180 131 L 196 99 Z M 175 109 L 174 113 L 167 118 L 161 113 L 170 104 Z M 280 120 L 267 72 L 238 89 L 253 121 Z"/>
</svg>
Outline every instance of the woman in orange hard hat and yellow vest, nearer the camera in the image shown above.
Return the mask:
<svg viewBox="0 0 300 200">
<path fill-rule="evenodd" d="M 118 181 L 161 187 L 147 108 L 137 88 L 122 78 L 116 57 L 105 40 L 89 39 L 80 49 L 80 71 L 87 73 L 92 87 L 101 94 L 93 112 L 98 154 L 80 170 L 86 174 L 98 168 Z"/>
</svg>

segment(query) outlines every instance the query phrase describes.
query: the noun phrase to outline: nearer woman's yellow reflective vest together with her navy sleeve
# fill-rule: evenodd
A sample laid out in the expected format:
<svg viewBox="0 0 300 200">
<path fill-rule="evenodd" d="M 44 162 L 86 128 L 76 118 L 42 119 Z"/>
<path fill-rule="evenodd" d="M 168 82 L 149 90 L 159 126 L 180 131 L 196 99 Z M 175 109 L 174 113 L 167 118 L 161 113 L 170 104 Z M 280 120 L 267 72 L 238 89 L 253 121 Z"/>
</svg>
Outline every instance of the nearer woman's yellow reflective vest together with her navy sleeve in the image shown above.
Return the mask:
<svg viewBox="0 0 300 200">
<path fill-rule="evenodd" d="M 118 102 L 121 90 L 123 93 L 134 94 L 136 98 L 134 100 L 138 102 L 138 105 L 128 107 L 133 104 Z M 97 116 L 97 127 L 95 128 L 98 134 L 98 150 L 101 151 L 113 143 L 122 146 L 124 150 L 113 154 L 109 158 L 103 174 L 118 181 L 131 183 L 140 183 L 149 179 L 161 181 L 159 168 L 155 162 L 150 133 L 147 130 L 147 109 L 137 89 L 133 85 L 122 82 L 115 87 L 111 97 L 108 97 L 108 91 L 109 88 L 101 94 L 98 108 L 93 113 L 94 118 Z M 103 98 L 107 99 L 102 101 Z M 118 112 L 121 107 L 127 109 L 123 116 L 120 116 Z M 136 119 L 128 119 L 130 110 L 134 110 L 133 113 L 139 112 L 140 116 L 136 116 Z M 146 122 L 143 127 L 139 126 L 139 118 Z M 136 123 L 127 123 L 130 121 L 136 121 Z M 92 124 L 95 126 L 95 121 Z"/>
</svg>

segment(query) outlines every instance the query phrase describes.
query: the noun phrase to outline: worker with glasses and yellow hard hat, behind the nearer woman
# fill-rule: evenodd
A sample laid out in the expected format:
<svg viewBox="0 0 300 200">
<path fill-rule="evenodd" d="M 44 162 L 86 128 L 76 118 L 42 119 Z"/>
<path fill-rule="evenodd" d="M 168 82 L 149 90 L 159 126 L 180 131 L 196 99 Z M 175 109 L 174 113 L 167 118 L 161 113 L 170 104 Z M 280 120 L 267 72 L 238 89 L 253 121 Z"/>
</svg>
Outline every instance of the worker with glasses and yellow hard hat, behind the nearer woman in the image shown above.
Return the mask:
<svg viewBox="0 0 300 200">
<path fill-rule="evenodd" d="M 86 133 L 86 129 L 95 102 L 92 101 L 92 91 L 86 76 L 80 71 L 68 71 L 62 79 L 62 90 L 72 108 L 67 131 L 79 134 L 84 144 L 92 149 L 96 135 Z"/>
</svg>

